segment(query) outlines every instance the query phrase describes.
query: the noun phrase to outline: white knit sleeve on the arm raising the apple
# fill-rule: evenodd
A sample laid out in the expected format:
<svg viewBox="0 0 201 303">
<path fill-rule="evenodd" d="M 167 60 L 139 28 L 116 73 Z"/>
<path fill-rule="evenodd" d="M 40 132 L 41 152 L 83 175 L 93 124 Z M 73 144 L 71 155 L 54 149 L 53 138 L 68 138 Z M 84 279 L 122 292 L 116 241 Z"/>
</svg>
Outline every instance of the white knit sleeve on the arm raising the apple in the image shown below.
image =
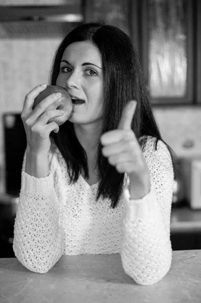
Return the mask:
<svg viewBox="0 0 201 303">
<path fill-rule="evenodd" d="M 25 151 L 14 225 L 15 256 L 26 268 L 36 273 L 45 273 L 52 268 L 63 251 L 51 158 L 50 152 L 49 175 L 35 178 L 25 173 Z"/>
</svg>

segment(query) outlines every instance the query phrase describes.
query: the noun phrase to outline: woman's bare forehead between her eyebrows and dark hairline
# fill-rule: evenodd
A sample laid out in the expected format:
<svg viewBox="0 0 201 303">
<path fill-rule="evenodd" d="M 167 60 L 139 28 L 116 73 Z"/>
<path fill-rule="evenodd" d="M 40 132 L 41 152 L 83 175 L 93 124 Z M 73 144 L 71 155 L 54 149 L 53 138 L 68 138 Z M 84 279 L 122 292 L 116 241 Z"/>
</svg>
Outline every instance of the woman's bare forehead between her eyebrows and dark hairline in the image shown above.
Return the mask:
<svg viewBox="0 0 201 303">
<path fill-rule="evenodd" d="M 74 42 L 65 48 L 62 60 L 69 63 L 98 63 L 101 65 L 101 53 L 99 49 L 90 41 Z"/>
</svg>

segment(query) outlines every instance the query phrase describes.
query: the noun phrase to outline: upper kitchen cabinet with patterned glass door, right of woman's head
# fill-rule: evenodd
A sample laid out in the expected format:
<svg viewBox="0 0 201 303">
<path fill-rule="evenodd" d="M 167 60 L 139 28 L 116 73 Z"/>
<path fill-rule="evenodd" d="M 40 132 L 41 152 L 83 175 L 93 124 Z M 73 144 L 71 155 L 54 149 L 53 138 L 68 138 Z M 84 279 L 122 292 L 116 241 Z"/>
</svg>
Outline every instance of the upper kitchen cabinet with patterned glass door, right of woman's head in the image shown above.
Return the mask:
<svg viewBox="0 0 201 303">
<path fill-rule="evenodd" d="M 85 0 L 85 22 L 104 21 L 128 34 L 153 106 L 201 104 L 199 0 Z"/>
</svg>

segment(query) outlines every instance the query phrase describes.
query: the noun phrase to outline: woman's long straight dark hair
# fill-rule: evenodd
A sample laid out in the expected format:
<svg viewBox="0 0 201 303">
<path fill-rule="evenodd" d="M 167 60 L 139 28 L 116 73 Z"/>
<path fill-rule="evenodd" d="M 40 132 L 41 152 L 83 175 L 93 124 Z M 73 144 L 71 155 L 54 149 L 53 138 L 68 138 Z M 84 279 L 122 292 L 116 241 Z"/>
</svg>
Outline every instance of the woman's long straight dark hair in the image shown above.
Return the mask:
<svg viewBox="0 0 201 303">
<path fill-rule="evenodd" d="M 103 70 L 103 116 L 101 134 L 118 127 L 122 110 L 130 99 L 137 100 L 137 108 L 131 123 L 140 146 L 144 151 L 147 136 L 162 140 L 159 128 L 152 113 L 149 95 L 145 85 L 138 55 L 130 38 L 115 26 L 91 22 L 73 29 L 58 45 L 55 53 L 50 82 L 56 84 L 60 61 L 65 48 L 73 42 L 91 41 L 102 55 Z M 140 138 L 143 137 L 142 140 Z M 89 178 L 87 155 L 74 131 L 73 123 L 66 121 L 59 127 L 58 133 L 51 132 L 50 137 L 62 154 L 70 176 L 70 184 L 75 183 L 83 168 L 85 177 Z M 111 200 L 111 208 L 118 204 L 124 186 L 124 173 L 118 173 L 114 166 L 102 156 L 100 137 L 98 138 L 96 167 L 98 168 L 99 186 L 96 201 L 102 195 Z M 163 141 L 164 142 L 164 141 Z M 165 142 L 164 142 L 165 143 Z M 174 174 L 176 172 L 176 155 L 165 143 L 172 159 Z"/>
</svg>

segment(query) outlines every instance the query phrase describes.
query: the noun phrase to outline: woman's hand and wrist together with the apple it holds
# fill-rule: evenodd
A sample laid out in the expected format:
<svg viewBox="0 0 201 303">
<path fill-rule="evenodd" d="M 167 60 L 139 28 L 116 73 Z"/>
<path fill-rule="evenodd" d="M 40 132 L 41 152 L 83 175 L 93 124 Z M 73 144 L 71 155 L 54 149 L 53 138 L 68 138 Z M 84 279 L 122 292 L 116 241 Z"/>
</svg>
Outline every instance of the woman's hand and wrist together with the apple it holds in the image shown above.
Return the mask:
<svg viewBox="0 0 201 303">
<path fill-rule="evenodd" d="M 21 119 L 27 136 L 27 150 L 32 155 L 48 154 L 50 132 L 59 131 L 59 126 L 69 119 L 72 108 L 71 97 L 62 87 L 41 84 L 26 94 Z"/>
</svg>

